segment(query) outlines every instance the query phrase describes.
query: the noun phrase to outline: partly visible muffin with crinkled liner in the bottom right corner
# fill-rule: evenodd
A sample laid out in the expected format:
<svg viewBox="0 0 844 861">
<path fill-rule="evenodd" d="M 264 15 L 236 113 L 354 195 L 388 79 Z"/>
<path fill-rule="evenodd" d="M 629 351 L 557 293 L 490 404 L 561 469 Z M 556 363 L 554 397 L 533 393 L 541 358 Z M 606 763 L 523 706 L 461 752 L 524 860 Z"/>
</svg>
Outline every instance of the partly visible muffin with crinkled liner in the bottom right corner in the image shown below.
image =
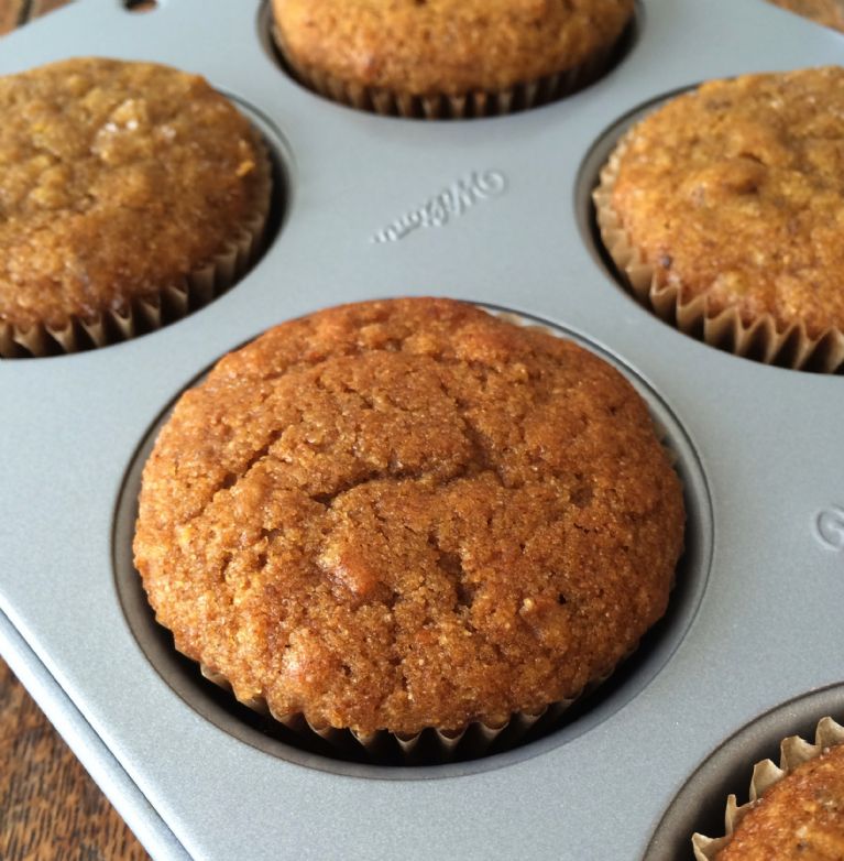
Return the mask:
<svg viewBox="0 0 844 861">
<path fill-rule="evenodd" d="M 695 835 L 698 861 L 831 861 L 844 858 L 844 728 L 818 724 L 815 744 L 782 742 L 780 767 L 754 770 L 750 804 L 727 804 L 727 836 Z"/>
</svg>

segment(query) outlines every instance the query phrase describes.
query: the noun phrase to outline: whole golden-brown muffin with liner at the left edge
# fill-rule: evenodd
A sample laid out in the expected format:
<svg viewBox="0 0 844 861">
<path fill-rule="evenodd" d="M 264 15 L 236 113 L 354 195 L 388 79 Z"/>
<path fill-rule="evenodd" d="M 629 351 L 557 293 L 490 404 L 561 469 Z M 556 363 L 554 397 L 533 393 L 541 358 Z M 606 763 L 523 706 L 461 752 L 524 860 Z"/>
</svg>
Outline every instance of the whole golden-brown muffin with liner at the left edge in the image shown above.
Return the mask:
<svg viewBox="0 0 844 861">
<path fill-rule="evenodd" d="M 228 286 L 270 165 L 199 76 L 74 58 L 0 78 L 0 355 L 102 346 Z"/>
</svg>

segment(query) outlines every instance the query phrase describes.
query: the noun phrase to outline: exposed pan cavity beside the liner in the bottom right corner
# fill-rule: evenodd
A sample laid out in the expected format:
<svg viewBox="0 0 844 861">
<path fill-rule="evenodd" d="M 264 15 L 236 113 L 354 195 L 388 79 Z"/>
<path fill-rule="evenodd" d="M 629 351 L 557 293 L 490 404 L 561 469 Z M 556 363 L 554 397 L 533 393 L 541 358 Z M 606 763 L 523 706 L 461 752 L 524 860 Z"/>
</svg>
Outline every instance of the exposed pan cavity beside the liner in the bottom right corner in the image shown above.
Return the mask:
<svg viewBox="0 0 844 861">
<path fill-rule="evenodd" d="M 818 721 L 844 720 L 844 685 L 813 690 L 783 702 L 743 727 L 727 739 L 689 777 L 666 810 L 643 861 L 693 861 L 689 836 L 724 833 L 724 807 L 728 795 L 737 804 L 748 799 L 753 766 L 769 759 L 779 762 L 779 744 L 789 735 L 814 740 Z"/>
</svg>

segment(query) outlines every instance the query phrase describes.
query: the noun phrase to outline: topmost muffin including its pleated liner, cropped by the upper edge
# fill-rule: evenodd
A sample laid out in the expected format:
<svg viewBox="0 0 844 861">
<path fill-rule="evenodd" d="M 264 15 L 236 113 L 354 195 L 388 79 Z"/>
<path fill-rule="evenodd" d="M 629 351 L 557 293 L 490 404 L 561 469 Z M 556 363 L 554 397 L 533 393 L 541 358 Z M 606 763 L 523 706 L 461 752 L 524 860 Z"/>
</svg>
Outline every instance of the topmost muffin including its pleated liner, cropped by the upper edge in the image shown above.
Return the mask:
<svg viewBox="0 0 844 861">
<path fill-rule="evenodd" d="M 316 91 L 405 117 L 563 96 L 607 66 L 634 0 L 273 0 L 288 67 Z"/>
</svg>

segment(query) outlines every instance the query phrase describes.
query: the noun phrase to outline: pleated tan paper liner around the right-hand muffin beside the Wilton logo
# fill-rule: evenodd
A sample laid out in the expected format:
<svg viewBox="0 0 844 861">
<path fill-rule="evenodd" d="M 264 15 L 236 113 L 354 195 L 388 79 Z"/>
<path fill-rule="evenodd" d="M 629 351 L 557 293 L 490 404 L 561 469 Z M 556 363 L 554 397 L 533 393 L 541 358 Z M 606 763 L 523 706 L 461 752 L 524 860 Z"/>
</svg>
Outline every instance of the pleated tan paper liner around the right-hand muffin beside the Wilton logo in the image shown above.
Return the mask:
<svg viewBox="0 0 844 861">
<path fill-rule="evenodd" d="M 746 321 L 736 307 L 713 310 L 706 293 L 688 298 L 683 296 L 682 284 L 668 283 L 664 272 L 636 248 L 612 205 L 618 165 L 626 148 L 623 139 L 610 155 L 592 199 L 604 248 L 631 292 L 660 319 L 711 347 L 793 370 L 844 371 L 842 329 L 829 328 L 811 336 L 804 323 L 778 326 L 770 314 Z"/>
</svg>

